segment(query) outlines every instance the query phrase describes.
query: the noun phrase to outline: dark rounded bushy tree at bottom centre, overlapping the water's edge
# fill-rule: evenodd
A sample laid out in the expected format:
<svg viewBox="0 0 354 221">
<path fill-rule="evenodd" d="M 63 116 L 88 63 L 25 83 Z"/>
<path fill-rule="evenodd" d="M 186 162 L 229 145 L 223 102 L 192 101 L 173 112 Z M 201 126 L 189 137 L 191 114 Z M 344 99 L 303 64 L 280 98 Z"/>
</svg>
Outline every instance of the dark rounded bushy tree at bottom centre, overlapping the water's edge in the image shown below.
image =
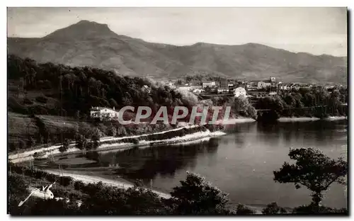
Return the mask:
<svg viewBox="0 0 354 221">
<path fill-rule="evenodd" d="M 229 201 L 224 193 L 205 181 L 198 174 L 189 173 L 181 186 L 176 186 L 171 192 L 176 212 L 183 215 L 221 215 L 228 214 L 225 207 Z"/>
</svg>

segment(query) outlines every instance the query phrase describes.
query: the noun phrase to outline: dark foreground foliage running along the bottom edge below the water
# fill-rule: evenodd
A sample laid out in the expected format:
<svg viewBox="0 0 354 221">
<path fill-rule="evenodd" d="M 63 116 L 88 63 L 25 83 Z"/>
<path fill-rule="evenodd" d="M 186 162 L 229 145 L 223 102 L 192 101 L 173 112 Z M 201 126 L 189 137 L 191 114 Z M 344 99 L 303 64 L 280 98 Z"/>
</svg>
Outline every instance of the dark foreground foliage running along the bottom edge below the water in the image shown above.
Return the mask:
<svg viewBox="0 0 354 221">
<path fill-rule="evenodd" d="M 45 171 L 9 163 L 12 174 L 8 176 L 8 209 L 11 215 L 252 215 L 254 211 L 245 205 L 237 205 L 234 210 L 227 209 L 227 195 L 207 183 L 205 179 L 188 173 L 181 186 L 173 188 L 173 198 L 163 199 L 156 193 L 142 188 L 141 183 L 133 188 L 117 188 L 105 186 L 102 182 L 85 184 L 73 181 L 69 176 L 49 174 Z M 71 186 L 77 193 L 68 193 L 67 188 L 52 189 L 55 196 L 66 196 L 66 200 L 30 199 L 18 208 L 18 203 L 28 196 L 25 181 L 19 174 L 37 176 L 51 183 L 57 181 L 61 186 Z M 40 175 L 39 175 L 40 174 Z M 85 197 L 83 198 L 83 196 Z M 86 196 L 87 195 L 87 196 Z M 81 199 L 78 207 L 76 200 Z M 270 203 L 263 209 L 263 214 L 273 215 L 284 213 L 276 203 Z M 295 208 L 298 214 L 346 214 L 346 209 L 333 209 L 323 206 L 302 205 Z"/>
</svg>

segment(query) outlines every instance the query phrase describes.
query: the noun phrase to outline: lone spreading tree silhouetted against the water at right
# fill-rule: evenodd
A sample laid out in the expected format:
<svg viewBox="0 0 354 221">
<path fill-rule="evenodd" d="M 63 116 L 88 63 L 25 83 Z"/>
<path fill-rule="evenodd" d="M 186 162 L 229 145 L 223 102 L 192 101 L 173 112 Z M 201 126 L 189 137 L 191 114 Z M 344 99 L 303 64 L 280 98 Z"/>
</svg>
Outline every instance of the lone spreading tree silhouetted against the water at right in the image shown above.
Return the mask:
<svg viewBox="0 0 354 221">
<path fill-rule="evenodd" d="M 274 171 L 274 180 L 279 183 L 294 183 L 295 188 L 305 186 L 312 191 L 312 204 L 319 208 L 323 192 L 336 182 L 345 184 L 348 163 L 342 158 L 330 159 L 319 149 L 290 149 L 290 159 L 296 164 L 285 162 L 279 171 Z"/>
</svg>

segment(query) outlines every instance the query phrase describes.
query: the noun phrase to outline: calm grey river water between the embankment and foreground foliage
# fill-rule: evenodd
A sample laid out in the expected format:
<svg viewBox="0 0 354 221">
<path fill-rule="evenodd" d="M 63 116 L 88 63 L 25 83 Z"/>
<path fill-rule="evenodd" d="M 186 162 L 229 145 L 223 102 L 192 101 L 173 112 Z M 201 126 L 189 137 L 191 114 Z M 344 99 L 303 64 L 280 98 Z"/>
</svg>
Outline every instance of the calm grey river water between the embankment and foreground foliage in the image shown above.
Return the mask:
<svg viewBox="0 0 354 221">
<path fill-rule="evenodd" d="M 273 171 L 290 162 L 290 147 L 319 148 L 329 157 L 346 159 L 347 128 L 346 120 L 239 123 L 229 125 L 227 135 L 203 142 L 75 154 L 62 161 L 69 164 L 67 170 L 76 173 L 127 181 L 142 179 L 145 186 L 165 193 L 185 179 L 186 171 L 193 171 L 229 193 L 233 204 L 277 202 L 292 208 L 309 203 L 310 192 L 296 189 L 292 183 L 275 183 Z M 346 202 L 346 187 L 332 184 L 323 204 L 346 208 Z"/>
</svg>

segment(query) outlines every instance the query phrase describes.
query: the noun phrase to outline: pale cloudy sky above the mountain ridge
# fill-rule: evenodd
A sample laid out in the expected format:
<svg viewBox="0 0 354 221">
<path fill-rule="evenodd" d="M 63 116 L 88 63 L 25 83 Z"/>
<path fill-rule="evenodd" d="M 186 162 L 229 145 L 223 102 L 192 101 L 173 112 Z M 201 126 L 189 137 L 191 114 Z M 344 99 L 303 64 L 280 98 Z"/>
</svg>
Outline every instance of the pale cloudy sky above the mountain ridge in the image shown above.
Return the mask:
<svg viewBox="0 0 354 221">
<path fill-rule="evenodd" d="M 8 8 L 8 37 L 41 38 L 81 20 L 119 35 L 193 45 L 260 43 L 347 55 L 347 8 Z"/>
</svg>

